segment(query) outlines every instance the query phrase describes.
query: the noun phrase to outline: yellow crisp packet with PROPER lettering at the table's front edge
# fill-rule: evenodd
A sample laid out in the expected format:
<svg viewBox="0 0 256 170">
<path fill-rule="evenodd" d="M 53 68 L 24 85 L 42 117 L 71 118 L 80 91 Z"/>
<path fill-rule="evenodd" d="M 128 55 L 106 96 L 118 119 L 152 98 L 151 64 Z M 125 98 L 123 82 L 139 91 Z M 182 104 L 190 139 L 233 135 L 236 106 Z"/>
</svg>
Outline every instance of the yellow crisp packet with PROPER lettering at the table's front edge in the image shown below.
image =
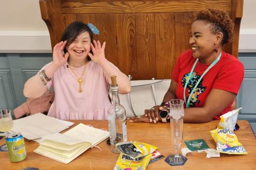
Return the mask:
<svg viewBox="0 0 256 170">
<path fill-rule="evenodd" d="M 121 153 L 117 159 L 114 170 L 146 170 L 152 154 L 145 157 L 132 159 Z"/>
</svg>

